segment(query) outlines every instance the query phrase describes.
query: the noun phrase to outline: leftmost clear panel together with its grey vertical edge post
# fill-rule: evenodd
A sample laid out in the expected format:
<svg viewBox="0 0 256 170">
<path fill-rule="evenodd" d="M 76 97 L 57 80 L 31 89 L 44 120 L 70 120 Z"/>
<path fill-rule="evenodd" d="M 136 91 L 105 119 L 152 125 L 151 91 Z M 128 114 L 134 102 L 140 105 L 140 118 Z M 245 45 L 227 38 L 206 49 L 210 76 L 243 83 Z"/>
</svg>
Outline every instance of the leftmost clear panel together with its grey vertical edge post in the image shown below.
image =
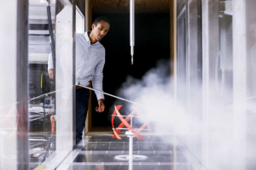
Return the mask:
<svg viewBox="0 0 256 170">
<path fill-rule="evenodd" d="M 27 1 L 0 10 L 0 169 L 26 169 Z"/>
</svg>

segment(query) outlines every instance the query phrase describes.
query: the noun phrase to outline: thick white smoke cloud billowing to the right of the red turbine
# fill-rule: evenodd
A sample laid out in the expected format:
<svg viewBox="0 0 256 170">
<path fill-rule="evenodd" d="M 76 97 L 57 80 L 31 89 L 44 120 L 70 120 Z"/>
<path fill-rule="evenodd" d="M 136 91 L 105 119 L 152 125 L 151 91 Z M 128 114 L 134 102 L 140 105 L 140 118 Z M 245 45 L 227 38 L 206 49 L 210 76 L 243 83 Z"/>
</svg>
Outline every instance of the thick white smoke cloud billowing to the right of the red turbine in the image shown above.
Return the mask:
<svg viewBox="0 0 256 170">
<path fill-rule="evenodd" d="M 247 114 L 241 114 L 239 121 L 234 120 L 231 87 L 223 88 L 219 94 L 212 81 L 212 94 L 205 98 L 201 86 L 190 84 L 190 91 L 195 96 L 190 96 L 192 99 L 186 99 L 185 103 L 179 102 L 172 91 L 169 63 L 160 61 L 141 80 L 127 77 L 117 94 L 141 105 L 140 122 L 148 122 L 160 140 L 177 136 L 177 147 L 185 146 L 194 157 L 192 160 L 201 163 L 199 169 L 232 169 L 237 165 L 238 162 L 234 162 L 237 159 L 241 161 L 240 165 L 255 169 L 247 161 L 255 159 L 253 153 L 247 153 L 247 150 L 255 149 L 255 144 L 246 136 Z M 123 115 L 138 107 L 119 100 L 114 105 L 124 105 L 120 111 Z M 242 109 L 240 112 L 247 113 Z M 236 157 L 238 149 L 242 150 L 239 158 Z"/>
</svg>

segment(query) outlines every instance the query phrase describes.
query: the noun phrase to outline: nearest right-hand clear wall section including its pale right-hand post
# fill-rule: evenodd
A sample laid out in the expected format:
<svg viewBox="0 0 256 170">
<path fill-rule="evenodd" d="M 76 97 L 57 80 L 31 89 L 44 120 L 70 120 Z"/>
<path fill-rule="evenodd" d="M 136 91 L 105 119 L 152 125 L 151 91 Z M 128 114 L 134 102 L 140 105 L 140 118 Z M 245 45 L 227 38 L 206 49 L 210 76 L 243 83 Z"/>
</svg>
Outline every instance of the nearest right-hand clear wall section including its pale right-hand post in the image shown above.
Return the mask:
<svg viewBox="0 0 256 170">
<path fill-rule="evenodd" d="M 210 169 L 256 168 L 254 11 L 250 0 L 202 3 L 202 162 Z"/>
</svg>

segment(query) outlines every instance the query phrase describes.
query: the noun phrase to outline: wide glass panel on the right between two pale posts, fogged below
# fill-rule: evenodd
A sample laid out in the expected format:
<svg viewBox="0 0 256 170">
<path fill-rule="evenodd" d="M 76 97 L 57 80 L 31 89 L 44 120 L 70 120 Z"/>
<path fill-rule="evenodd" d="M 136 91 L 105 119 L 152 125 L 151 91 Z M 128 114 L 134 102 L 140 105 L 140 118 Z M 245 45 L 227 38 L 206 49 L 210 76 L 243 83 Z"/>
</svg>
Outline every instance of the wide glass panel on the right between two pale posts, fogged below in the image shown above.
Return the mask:
<svg viewBox="0 0 256 170">
<path fill-rule="evenodd" d="M 230 169 L 233 162 L 233 19 L 232 1 L 203 2 L 203 147 L 204 166 Z M 207 39 L 207 40 L 206 40 Z"/>
</svg>

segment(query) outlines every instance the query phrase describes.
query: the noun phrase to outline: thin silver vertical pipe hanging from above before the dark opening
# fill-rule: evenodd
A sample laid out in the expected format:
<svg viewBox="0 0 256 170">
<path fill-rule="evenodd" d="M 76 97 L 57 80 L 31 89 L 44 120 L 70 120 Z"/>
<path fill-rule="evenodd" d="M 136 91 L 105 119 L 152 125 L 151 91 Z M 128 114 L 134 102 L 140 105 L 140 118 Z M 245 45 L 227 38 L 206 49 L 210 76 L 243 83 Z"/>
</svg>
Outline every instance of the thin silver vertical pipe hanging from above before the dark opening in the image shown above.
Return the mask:
<svg viewBox="0 0 256 170">
<path fill-rule="evenodd" d="M 131 46 L 131 65 L 133 65 L 133 54 L 134 54 L 134 0 L 130 0 L 130 46 Z"/>
</svg>

